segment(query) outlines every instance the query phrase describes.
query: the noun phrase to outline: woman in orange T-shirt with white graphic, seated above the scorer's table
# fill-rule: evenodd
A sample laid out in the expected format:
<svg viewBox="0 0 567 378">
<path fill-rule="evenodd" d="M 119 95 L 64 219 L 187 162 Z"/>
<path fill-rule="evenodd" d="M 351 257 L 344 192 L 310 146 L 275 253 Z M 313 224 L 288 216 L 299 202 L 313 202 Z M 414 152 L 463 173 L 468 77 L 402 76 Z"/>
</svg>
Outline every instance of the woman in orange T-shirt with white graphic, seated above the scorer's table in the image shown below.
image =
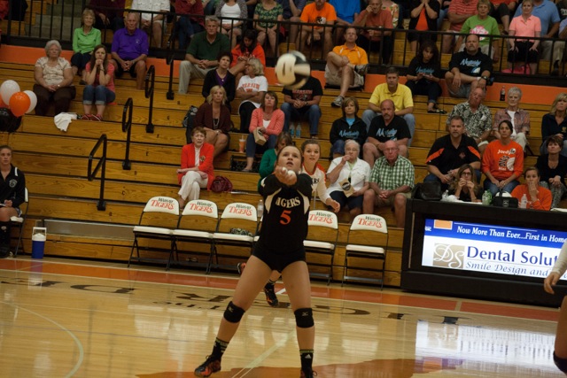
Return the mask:
<svg viewBox="0 0 567 378">
<path fill-rule="evenodd" d="M 499 190 L 511 193 L 524 170 L 524 150 L 511 139 L 512 128 L 509 120 L 501 121 L 498 125 L 500 139 L 488 143 L 482 157 L 484 188 L 490 190 L 493 197 Z"/>
</svg>

